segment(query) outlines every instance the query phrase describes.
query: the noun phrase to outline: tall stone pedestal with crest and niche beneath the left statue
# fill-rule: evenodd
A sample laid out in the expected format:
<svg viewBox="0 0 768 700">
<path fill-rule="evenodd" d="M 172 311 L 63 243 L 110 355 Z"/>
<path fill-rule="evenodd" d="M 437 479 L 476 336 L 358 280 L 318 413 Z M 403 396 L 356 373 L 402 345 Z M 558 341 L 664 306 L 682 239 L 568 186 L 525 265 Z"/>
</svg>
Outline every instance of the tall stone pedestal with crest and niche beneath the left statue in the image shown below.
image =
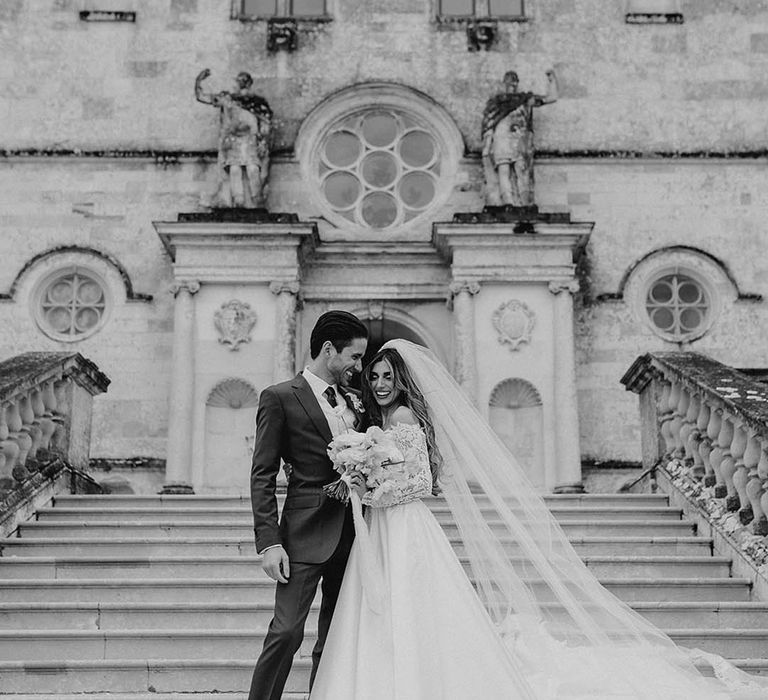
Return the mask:
<svg viewBox="0 0 768 700">
<path fill-rule="evenodd" d="M 249 397 L 293 375 L 301 266 L 315 224 L 222 209 L 154 225 L 173 260 L 176 293 L 163 492 L 223 489 L 226 472 L 238 480 L 227 490 L 246 493 L 256 403 Z M 231 435 L 221 433 L 222 410 L 238 412 Z"/>
</svg>

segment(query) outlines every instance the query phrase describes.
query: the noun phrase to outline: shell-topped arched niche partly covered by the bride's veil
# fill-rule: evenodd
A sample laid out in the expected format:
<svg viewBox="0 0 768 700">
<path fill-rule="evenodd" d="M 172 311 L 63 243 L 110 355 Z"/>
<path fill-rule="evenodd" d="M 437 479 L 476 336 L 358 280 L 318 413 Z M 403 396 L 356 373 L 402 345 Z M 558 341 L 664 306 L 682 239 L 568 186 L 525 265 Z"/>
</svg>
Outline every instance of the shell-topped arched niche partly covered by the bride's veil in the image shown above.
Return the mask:
<svg viewBox="0 0 768 700">
<path fill-rule="evenodd" d="M 541 395 L 519 377 L 499 382 L 488 400 L 488 420 L 534 486 L 544 489 L 544 428 Z"/>
</svg>

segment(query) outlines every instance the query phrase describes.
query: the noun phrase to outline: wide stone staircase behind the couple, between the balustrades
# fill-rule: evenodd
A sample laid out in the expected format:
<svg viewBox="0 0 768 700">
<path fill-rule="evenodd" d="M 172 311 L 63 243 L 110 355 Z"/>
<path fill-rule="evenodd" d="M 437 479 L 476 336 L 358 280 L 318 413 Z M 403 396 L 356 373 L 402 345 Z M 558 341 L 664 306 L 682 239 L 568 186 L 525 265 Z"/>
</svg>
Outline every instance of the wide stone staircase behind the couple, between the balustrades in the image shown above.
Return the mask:
<svg viewBox="0 0 768 700">
<path fill-rule="evenodd" d="M 681 644 L 768 673 L 768 603 L 666 496 L 547 502 L 609 590 Z M 430 506 L 455 534 L 445 503 Z M 273 585 L 247 499 L 58 496 L 0 541 L 0 695 L 245 698 Z M 285 700 L 305 697 L 316 614 Z"/>
</svg>

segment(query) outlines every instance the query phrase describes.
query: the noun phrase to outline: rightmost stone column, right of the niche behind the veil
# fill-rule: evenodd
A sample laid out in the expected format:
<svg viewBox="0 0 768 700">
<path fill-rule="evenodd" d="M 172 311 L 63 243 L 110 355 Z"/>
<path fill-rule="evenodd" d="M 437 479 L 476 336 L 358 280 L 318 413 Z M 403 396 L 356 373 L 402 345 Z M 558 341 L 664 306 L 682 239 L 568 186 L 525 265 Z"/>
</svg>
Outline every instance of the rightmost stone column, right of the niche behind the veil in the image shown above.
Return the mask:
<svg viewBox="0 0 768 700">
<path fill-rule="evenodd" d="M 550 282 L 554 303 L 555 493 L 582 493 L 579 411 L 576 398 L 576 349 L 573 337 L 573 294 L 576 280 Z"/>
</svg>

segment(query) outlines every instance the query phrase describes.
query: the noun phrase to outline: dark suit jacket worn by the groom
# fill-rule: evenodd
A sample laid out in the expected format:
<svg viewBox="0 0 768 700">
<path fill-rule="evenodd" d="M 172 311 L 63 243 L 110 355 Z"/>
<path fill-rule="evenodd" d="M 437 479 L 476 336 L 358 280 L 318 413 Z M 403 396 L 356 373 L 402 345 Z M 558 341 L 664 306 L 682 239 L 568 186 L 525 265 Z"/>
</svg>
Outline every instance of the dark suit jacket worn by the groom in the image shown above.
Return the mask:
<svg viewBox="0 0 768 700">
<path fill-rule="evenodd" d="M 291 561 L 315 564 L 333 554 L 347 508 L 322 490 L 339 476 L 328 459 L 332 438 L 328 421 L 301 374 L 261 392 L 251 465 L 257 551 L 281 544 Z M 278 522 L 275 487 L 281 459 L 292 469 Z"/>
</svg>

